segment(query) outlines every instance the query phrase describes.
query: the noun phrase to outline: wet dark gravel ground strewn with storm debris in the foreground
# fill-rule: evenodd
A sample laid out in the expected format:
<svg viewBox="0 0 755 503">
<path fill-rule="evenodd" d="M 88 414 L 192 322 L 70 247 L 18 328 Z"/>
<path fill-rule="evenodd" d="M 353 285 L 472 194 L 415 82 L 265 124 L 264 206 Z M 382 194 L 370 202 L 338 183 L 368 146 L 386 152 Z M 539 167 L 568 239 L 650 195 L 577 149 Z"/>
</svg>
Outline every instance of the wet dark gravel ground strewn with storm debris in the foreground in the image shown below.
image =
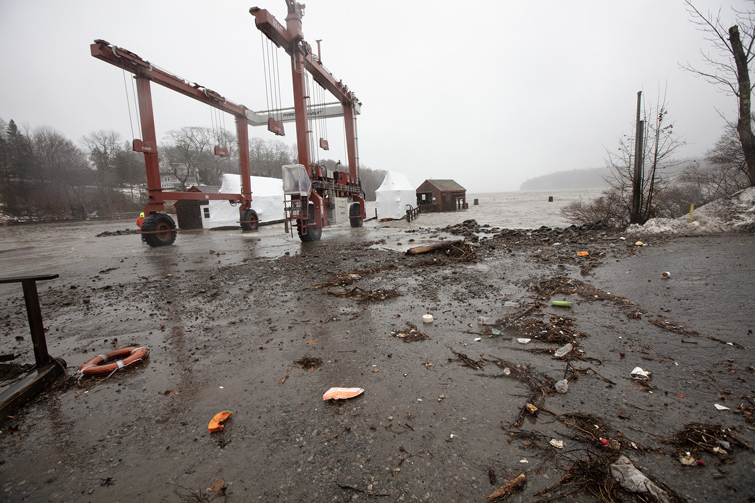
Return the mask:
<svg viewBox="0 0 755 503">
<path fill-rule="evenodd" d="M 755 499 L 751 234 L 398 222 L 326 229 L 311 244 L 217 236 L 214 250 L 186 232 L 183 245 L 103 255 L 39 285 L 49 351 L 71 377 L 0 423 L 5 501 L 209 501 L 220 477 L 215 501 L 488 501 L 522 472 L 509 501 L 547 501 L 580 489 L 558 485 L 575 463 L 619 453 L 676 501 Z M 474 257 L 403 253 L 458 239 Z M 553 278 L 572 290 L 533 290 Z M 344 296 L 355 287 L 401 295 Z M 0 293 L 0 353 L 31 361 L 23 297 Z M 478 323 L 518 314 L 499 335 Z M 564 317 L 578 336 L 556 358 L 562 344 L 532 327 L 557 321 L 557 333 Z M 411 325 L 429 339 L 405 342 Z M 75 379 L 85 360 L 128 345 L 148 359 Z M 294 363 L 305 357 L 322 365 Z M 651 379 L 631 379 L 634 367 Z M 365 392 L 323 402 L 331 386 Z M 221 410 L 233 416 L 208 433 Z M 690 423 L 725 429 L 727 453 L 664 441 Z M 704 465 L 681 465 L 688 450 Z M 599 498 L 581 489 L 575 501 Z"/>
</svg>

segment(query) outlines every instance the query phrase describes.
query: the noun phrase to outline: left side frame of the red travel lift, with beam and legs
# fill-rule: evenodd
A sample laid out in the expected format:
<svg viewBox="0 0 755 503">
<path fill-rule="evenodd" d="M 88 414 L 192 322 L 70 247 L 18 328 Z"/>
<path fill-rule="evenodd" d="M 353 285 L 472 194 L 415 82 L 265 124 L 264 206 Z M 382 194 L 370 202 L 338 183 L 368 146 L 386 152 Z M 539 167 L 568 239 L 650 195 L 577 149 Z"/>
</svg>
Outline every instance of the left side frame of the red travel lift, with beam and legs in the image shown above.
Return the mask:
<svg viewBox="0 0 755 503">
<path fill-rule="evenodd" d="M 139 115 L 143 138 L 134 140 L 133 148 L 136 152 L 144 153 L 144 165 L 146 167 L 146 187 L 149 193 L 149 202 L 144 207 L 146 218 L 142 222 L 142 240 L 152 247 L 173 244 L 176 239 L 176 228 L 173 219 L 165 212 L 165 201 L 181 201 L 184 199 L 199 200 L 227 200 L 231 203 L 240 204 L 239 212 L 246 212 L 247 218 L 242 218 L 244 213 L 239 213 L 242 227 L 248 225 L 249 213 L 251 213 L 251 182 L 249 179 L 249 136 L 246 116 L 246 107 L 237 105 L 214 92 L 214 90 L 192 84 L 178 78 L 176 75 L 156 68 L 138 57 L 136 54 L 116 47 L 104 40 L 95 40 L 91 44 L 91 54 L 98 60 L 106 61 L 111 65 L 118 66 L 135 75 L 137 98 L 139 100 Z M 155 117 L 152 108 L 152 90 L 149 82 L 168 87 L 195 100 L 214 106 L 223 112 L 230 113 L 236 118 L 236 136 L 239 140 L 239 171 L 241 173 L 241 194 L 218 194 L 211 192 L 163 192 L 160 182 L 160 164 L 157 157 L 157 138 L 155 133 Z M 251 222 L 253 225 L 256 222 Z"/>
</svg>

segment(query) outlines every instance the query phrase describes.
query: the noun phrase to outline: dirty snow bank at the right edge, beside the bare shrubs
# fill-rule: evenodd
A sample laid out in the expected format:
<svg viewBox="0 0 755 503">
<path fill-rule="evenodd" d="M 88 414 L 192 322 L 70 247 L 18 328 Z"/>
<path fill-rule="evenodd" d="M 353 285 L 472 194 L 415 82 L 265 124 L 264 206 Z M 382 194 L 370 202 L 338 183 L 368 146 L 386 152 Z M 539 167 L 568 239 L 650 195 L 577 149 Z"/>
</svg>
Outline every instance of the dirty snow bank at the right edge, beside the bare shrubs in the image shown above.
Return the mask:
<svg viewBox="0 0 755 503">
<path fill-rule="evenodd" d="M 645 225 L 630 225 L 627 232 L 643 234 L 674 234 L 682 236 L 713 234 L 727 231 L 755 230 L 755 187 L 716 199 L 676 219 L 649 219 Z"/>
</svg>

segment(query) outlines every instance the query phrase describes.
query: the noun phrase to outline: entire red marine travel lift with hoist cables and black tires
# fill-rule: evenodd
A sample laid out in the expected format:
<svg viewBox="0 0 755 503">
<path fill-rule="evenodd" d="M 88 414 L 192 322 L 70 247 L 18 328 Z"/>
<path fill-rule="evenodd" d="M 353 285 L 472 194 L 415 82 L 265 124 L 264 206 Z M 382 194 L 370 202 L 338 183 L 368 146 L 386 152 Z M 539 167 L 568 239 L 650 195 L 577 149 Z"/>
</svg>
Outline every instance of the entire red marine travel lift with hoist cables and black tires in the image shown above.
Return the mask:
<svg viewBox="0 0 755 503">
<path fill-rule="evenodd" d="M 296 122 L 297 146 L 299 164 L 283 167 L 286 173 L 300 173 L 294 189 L 286 194 L 286 219 L 295 222 L 297 233 L 301 241 L 319 240 L 322 228 L 330 224 L 336 201 L 347 201 L 350 204 L 349 217 L 353 227 L 361 227 L 365 218 L 364 192 L 362 192 L 356 151 L 356 124 L 354 115 L 359 113 L 361 103 L 353 92 L 336 81 L 333 75 L 325 70 L 318 57 L 312 54 L 310 44 L 303 39 L 301 32 L 301 17 L 304 16 L 304 5 L 286 0 L 288 16 L 286 28 L 268 11 L 251 8 L 257 28 L 260 29 L 278 47 L 291 56 L 291 69 L 294 81 L 294 116 L 290 113 L 282 114 L 280 121 L 272 117 L 267 119 L 267 127 L 276 134 L 283 133 L 282 123 Z M 91 55 L 97 59 L 118 66 L 134 74 L 136 81 L 139 115 L 143 138 L 134 139 L 133 149 L 143 152 L 146 167 L 147 192 L 149 202 L 144 207 L 146 218 L 141 225 L 142 240 L 151 247 L 173 244 L 178 230 L 174 220 L 165 213 L 165 201 L 188 200 L 227 200 L 232 204 L 239 204 L 239 220 L 244 230 L 257 228 L 257 213 L 251 209 L 251 183 L 249 173 L 248 124 L 266 124 L 260 120 L 261 113 L 253 112 L 243 105 L 233 103 L 214 90 L 202 85 L 186 81 L 163 69 L 156 68 L 143 60 L 137 54 L 116 47 L 104 40 L 95 40 L 91 44 Z M 307 106 L 307 82 L 305 71 L 309 71 L 316 82 L 330 91 L 341 102 L 343 112 L 334 110 L 333 104 L 327 106 Z M 192 97 L 202 103 L 207 103 L 216 109 L 227 112 L 236 118 L 236 136 L 239 142 L 239 172 L 242 179 L 242 193 L 210 193 L 210 192 L 167 192 L 162 190 L 160 182 L 160 168 L 157 152 L 157 138 L 152 106 L 150 81 L 175 90 L 180 94 Z M 347 157 L 349 173 L 337 173 L 326 170 L 315 164 L 310 158 L 310 133 L 308 130 L 309 116 L 321 117 L 344 116 Z M 322 140 L 321 140 L 322 143 Z M 216 155 L 227 155 L 227 149 L 215 147 Z M 290 186 L 291 184 L 289 184 Z"/>
</svg>

